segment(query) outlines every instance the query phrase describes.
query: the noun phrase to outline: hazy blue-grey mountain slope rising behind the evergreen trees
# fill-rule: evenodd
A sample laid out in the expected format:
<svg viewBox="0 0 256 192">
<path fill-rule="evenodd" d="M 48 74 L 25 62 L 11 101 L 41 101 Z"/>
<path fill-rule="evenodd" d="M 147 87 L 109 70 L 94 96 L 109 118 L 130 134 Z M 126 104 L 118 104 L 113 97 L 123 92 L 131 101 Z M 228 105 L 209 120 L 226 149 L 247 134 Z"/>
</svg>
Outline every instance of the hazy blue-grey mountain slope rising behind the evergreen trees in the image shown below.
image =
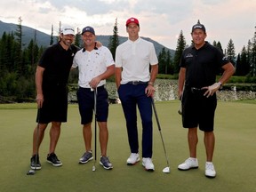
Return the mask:
<svg viewBox="0 0 256 192">
<path fill-rule="evenodd" d="M 17 28 L 17 24 L 13 24 L 13 23 L 4 23 L 3 21 L 0 20 L 0 38 L 3 36 L 4 32 L 6 33 L 14 33 L 15 30 Z M 36 31 L 36 33 L 35 33 Z M 50 44 L 50 37 L 51 35 L 45 34 L 44 32 L 38 31 L 35 28 L 29 28 L 26 26 L 22 26 L 22 41 L 23 44 L 28 45 L 31 39 L 35 39 L 35 34 L 36 34 L 36 42 L 39 46 L 48 46 Z M 108 42 L 109 42 L 109 37 L 110 36 L 101 36 L 98 35 L 97 36 L 97 40 L 100 41 L 103 45 L 108 46 Z M 161 50 L 165 47 L 163 44 L 159 44 L 156 41 L 148 38 L 148 37 L 142 37 L 146 40 L 148 40 L 149 42 L 152 42 L 155 45 L 156 48 L 156 54 L 158 55 L 159 52 L 161 52 Z M 127 37 L 124 36 L 119 36 L 119 42 L 120 44 L 124 43 L 124 41 L 127 40 Z M 165 47 L 166 50 L 170 50 L 171 55 L 174 55 L 174 50 L 169 49 L 167 47 Z"/>
</svg>

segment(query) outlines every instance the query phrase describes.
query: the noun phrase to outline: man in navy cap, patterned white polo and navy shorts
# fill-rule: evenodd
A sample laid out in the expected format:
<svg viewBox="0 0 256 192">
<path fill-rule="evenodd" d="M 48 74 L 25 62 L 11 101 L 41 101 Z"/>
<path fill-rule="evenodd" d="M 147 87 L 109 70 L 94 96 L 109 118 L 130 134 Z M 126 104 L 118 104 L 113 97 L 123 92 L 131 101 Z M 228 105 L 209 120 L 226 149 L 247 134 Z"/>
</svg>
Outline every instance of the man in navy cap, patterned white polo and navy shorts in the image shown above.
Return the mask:
<svg viewBox="0 0 256 192">
<path fill-rule="evenodd" d="M 107 156 L 108 145 L 108 92 L 104 88 L 106 79 L 115 73 L 115 62 L 111 52 L 105 46 L 95 46 L 95 31 L 92 27 L 85 27 L 82 31 L 84 49 L 76 52 L 72 68 L 79 70 L 79 89 L 77 100 L 83 124 L 85 153 L 79 164 L 86 164 L 92 156 L 92 114 L 94 108 L 94 92 L 97 94 L 97 122 L 100 127 L 100 164 L 105 169 L 112 169 Z"/>
</svg>

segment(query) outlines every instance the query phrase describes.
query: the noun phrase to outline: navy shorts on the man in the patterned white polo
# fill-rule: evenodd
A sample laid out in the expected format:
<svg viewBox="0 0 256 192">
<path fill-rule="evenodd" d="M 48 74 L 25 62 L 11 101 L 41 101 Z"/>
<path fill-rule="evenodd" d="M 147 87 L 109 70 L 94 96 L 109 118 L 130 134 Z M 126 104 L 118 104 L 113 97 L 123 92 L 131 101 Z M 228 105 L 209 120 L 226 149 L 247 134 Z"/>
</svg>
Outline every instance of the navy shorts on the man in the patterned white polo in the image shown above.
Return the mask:
<svg viewBox="0 0 256 192">
<path fill-rule="evenodd" d="M 76 92 L 81 124 L 92 122 L 94 110 L 94 91 L 90 88 L 79 87 Z M 108 92 L 104 85 L 97 88 L 96 117 L 98 122 L 107 122 L 108 120 Z"/>
</svg>

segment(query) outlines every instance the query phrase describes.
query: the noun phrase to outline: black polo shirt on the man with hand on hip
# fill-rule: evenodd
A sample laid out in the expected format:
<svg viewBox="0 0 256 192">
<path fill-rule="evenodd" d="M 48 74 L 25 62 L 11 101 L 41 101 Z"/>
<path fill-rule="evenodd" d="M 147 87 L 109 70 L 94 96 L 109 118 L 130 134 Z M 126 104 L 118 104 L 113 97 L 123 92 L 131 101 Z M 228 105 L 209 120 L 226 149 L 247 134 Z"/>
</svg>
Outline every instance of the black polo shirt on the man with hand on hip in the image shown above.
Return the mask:
<svg viewBox="0 0 256 192">
<path fill-rule="evenodd" d="M 229 60 L 217 47 L 205 42 L 196 50 L 194 45 L 185 49 L 180 60 L 180 67 L 186 68 L 186 86 L 204 87 L 215 83 L 217 72 Z"/>
</svg>

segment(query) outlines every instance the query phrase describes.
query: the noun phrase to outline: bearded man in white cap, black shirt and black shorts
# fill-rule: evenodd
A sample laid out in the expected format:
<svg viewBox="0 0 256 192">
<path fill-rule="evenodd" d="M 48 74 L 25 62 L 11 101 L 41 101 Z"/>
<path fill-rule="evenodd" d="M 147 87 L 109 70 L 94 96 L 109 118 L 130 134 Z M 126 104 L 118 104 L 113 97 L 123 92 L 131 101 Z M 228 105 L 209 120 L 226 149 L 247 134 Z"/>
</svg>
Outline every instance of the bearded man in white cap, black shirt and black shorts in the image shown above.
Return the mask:
<svg viewBox="0 0 256 192">
<path fill-rule="evenodd" d="M 74 28 L 62 28 L 60 42 L 48 47 L 36 68 L 36 102 L 38 123 L 33 134 L 33 151 L 30 159 L 32 169 L 41 169 L 38 148 L 44 139 L 44 131 L 51 122 L 50 148 L 47 162 L 53 166 L 62 163 L 55 155 L 55 148 L 60 137 L 60 125 L 67 122 L 68 111 L 68 76 L 76 52 Z"/>
</svg>

